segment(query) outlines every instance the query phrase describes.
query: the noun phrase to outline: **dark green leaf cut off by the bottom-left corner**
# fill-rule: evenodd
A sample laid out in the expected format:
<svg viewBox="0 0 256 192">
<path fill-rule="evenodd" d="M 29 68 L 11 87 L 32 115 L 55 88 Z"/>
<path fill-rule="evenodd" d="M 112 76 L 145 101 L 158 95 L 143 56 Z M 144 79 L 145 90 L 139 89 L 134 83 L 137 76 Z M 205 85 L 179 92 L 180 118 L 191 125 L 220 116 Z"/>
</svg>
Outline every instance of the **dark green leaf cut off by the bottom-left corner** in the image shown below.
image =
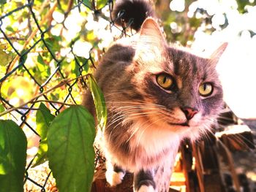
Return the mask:
<svg viewBox="0 0 256 192">
<path fill-rule="evenodd" d="M 12 120 L 0 120 L 0 191 L 23 191 L 26 136 Z"/>
</svg>

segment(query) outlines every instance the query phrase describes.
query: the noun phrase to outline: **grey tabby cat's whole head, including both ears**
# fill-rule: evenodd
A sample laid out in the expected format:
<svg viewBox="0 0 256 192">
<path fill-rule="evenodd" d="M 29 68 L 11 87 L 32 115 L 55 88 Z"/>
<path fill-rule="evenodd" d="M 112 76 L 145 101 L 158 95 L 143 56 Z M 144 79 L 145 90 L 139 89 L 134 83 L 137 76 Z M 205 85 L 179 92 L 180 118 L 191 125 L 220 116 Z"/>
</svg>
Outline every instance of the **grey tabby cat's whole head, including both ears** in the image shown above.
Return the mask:
<svg viewBox="0 0 256 192">
<path fill-rule="evenodd" d="M 197 57 L 169 47 L 157 22 L 145 20 L 132 64 L 126 69 L 133 86 L 127 86 L 127 94 L 119 98 L 124 122 L 140 121 L 147 130 L 162 128 L 181 138 L 197 139 L 222 109 L 222 86 L 215 67 L 225 47 L 210 58 Z M 129 97 L 132 93 L 137 99 Z"/>
</svg>

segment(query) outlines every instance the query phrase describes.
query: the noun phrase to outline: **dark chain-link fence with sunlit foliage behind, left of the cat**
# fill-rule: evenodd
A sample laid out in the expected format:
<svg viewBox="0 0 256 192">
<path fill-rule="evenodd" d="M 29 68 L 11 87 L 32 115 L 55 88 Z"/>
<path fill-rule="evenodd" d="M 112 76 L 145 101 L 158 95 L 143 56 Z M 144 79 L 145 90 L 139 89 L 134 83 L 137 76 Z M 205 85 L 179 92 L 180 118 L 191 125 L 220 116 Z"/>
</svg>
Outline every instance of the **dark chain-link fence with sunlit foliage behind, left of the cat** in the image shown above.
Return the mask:
<svg viewBox="0 0 256 192">
<path fill-rule="evenodd" d="M 40 139 L 36 129 L 39 103 L 55 115 L 69 104 L 80 104 L 85 74 L 97 67 L 106 47 L 102 39 L 109 38 L 94 37 L 94 24 L 105 20 L 104 30 L 117 31 L 118 37 L 127 35 L 129 26 L 115 26 L 113 0 L 1 1 L 0 5 L 1 118 L 15 120 L 28 139 L 25 191 L 57 191 L 48 164 L 32 167 Z M 78 15 L 81 26 L 68 37 Z M 99 150 L 96 155 L 95 165 Z"/>
</svg>

